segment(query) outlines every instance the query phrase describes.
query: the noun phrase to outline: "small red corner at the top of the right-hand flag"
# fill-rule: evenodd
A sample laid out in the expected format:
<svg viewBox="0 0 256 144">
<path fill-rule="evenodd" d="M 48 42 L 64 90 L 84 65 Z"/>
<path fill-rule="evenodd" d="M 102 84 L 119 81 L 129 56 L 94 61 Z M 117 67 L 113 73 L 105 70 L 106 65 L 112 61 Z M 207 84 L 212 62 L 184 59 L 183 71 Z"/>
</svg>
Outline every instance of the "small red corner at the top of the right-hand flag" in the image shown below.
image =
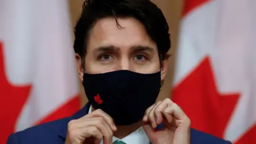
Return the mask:
<svg viewBox="0 0 256 144">
<path fill-rule="evenodd" d="M 210 0 L 185 0 L 184 4 L 183 4 L 183 12 L 182 12 L 182 16 L 184 17 L 185 15 L 187 15 L 191 10 L 196 9 L 196 7 L 209 2 Z"/>
</svg>

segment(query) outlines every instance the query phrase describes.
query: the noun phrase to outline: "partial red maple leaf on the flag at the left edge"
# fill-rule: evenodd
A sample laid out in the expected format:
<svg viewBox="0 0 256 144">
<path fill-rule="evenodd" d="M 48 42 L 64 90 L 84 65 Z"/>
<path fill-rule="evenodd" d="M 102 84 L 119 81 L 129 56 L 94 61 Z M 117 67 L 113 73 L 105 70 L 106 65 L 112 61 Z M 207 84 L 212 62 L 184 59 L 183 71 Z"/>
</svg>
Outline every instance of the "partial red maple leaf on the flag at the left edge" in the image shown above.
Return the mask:
<svg viewBox="0 0 256 144">
<path fill-rule="evenodd" d="M 15 124 L 24 106 L 31 85 L 12 85 L 5 74 L 4 62 L 4 46 L 0 42 L 0 115 L 1 115 L 1 129 L 4 131 L 0 137 L 0 143 L 6 143 L 7 138 L 15 131 Z"/>
</svg>

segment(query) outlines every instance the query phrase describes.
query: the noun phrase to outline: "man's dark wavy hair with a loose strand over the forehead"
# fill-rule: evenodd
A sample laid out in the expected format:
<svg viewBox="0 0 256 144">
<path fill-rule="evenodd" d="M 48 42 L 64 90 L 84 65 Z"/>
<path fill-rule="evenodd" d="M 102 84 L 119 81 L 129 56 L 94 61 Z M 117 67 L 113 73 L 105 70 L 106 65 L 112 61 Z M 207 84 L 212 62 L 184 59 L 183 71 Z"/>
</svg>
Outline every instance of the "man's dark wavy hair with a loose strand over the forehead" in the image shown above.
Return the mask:
<svg viewBox="0 0 256 144">
<path fill-rule="evenodd" d="M 87 39 L 97 20 L 114 17 L 132 17 L 139 20 L 156 43 L 158 53 L 167 56 L 171 47 L 169 26 L 162 11 L 149 0 L 87 0 L 83 3 L 81 17 L 76 23 L 74 50 L 85 57 Z M 116 24 L 119 25 L 117 19 Z"/>
</svg>

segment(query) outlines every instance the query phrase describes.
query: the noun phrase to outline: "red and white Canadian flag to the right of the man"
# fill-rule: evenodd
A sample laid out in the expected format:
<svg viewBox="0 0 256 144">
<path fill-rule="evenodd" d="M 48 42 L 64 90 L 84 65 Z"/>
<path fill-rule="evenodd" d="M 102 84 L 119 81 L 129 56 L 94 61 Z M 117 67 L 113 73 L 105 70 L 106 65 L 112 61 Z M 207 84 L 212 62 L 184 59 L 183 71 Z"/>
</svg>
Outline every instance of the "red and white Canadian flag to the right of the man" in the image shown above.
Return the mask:
<svg viewBox="0 0 256 144">
<path fill-rule="evenodd" d="M 256 1 L 186 0 L 173 101 L 191 127 L 256 143 Z"/>
</svg>

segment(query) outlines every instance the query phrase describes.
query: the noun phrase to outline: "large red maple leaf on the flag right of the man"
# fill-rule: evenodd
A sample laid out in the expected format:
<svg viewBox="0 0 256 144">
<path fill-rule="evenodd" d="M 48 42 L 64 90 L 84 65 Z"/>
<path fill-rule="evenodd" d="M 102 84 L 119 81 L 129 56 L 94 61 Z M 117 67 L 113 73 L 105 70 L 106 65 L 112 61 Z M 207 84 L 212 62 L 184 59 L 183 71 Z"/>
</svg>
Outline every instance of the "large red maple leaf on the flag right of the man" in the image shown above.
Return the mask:
<svg viewBox="0 0 256 144">
<path fill-rule="evenodd" d="M 191 127 L 223 138 L 238 93 L 221 94 L 217 90 L 209 57 L 173 89 L 176 102 L 191 120 Z"/>
</svg>

